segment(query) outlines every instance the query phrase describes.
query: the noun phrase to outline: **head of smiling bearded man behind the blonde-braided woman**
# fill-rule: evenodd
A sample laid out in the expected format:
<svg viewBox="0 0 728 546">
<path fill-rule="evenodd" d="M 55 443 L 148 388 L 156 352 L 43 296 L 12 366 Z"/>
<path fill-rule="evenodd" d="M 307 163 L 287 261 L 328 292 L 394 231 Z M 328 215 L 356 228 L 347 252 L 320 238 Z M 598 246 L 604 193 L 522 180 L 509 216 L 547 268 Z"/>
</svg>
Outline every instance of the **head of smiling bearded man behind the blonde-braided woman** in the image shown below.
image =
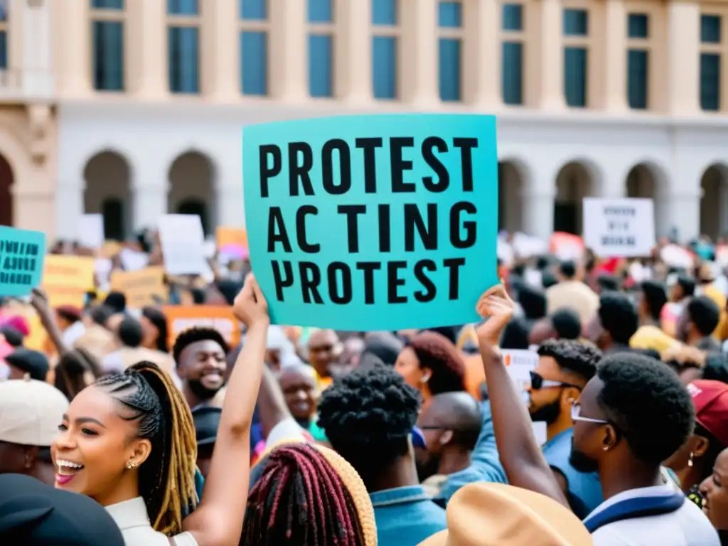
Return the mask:
<svg viewBox="0 0 728 546">
<path fill-rule="evenodd" d="M 225 384 L 228 351 L 215 328 L 189 328 L 177 336 L 172 355 L 190 408 L 213 404 Z"/>
</svg>

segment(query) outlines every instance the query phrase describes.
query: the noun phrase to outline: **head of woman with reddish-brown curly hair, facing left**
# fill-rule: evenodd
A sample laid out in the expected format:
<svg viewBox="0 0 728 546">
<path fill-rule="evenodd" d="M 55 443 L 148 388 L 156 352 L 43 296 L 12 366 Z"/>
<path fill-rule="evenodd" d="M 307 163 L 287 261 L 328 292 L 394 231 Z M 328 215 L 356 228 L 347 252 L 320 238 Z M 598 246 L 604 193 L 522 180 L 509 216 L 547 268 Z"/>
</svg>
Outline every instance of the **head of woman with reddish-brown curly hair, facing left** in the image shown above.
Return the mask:
<svg viewBox="0 0 728 546">
<path fill-rule="evenodd" d="M 465 389 L 465 363 L 452 341 L 440 333 L 418 333 L 402 349 L 395 371 L 419 390 L 424 404 L 434 395 Z"/>
</svg>

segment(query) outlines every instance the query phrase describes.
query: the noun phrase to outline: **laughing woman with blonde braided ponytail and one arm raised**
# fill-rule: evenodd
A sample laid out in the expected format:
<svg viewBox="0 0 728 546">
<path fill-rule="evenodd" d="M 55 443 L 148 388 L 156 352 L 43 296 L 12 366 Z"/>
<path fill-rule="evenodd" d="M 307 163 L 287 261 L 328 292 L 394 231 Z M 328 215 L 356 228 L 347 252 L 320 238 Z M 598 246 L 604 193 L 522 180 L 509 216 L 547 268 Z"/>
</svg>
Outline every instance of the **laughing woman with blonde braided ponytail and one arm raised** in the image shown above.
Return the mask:
<svg viewBox="0 0 728 546">
<path fill-rule="evenodd" d="M 171 379 L 152 363 L 100 379 L 63 416 L 52 446 L 56 487 L 106 507 L 127 546 L 237 544 L 250 471 L 250 424 L 264 362 L 268 307 L 248 276 L 234 301 L 248 336 L 229 381 L 215 453 L 199 501 L 192 417 Z M 193 511 L 194 510 L 194 511 Z"/>
</svg>

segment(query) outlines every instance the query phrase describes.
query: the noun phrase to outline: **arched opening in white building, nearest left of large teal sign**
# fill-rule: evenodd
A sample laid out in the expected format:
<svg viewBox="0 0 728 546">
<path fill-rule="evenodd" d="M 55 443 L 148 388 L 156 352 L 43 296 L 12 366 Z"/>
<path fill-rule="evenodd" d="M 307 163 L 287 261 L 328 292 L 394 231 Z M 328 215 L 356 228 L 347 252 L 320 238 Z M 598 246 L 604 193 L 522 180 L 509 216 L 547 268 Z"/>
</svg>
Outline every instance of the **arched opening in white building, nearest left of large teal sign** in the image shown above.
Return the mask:
<svg viewBox="0 0 728 546">
<path fill-rule="evenodd" d="M 213 177 L 210 158 L 197 151 L 181 154 L 170 167 L 167 210 L 172 214 L 197 214 L 205 234 L 215 227 Z"/>
</svg>

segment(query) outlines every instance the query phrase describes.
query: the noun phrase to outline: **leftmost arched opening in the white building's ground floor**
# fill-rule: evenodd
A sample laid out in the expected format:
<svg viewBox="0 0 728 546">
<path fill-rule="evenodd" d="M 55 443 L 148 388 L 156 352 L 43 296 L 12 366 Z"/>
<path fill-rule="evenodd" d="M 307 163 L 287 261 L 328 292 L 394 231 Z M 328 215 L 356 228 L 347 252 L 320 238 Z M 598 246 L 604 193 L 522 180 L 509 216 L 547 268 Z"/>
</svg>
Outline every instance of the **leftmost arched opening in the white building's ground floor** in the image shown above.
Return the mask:
<svg viewBox="0 0 728 546">
<path fill-rule="evenodd" d="M 86 163 L 84 180 L 84 213 L 103 215 L 107 240 L 124 240 L 130 226 L 129 162 L 115 151 L 101 151 Z"/>
</svg>

